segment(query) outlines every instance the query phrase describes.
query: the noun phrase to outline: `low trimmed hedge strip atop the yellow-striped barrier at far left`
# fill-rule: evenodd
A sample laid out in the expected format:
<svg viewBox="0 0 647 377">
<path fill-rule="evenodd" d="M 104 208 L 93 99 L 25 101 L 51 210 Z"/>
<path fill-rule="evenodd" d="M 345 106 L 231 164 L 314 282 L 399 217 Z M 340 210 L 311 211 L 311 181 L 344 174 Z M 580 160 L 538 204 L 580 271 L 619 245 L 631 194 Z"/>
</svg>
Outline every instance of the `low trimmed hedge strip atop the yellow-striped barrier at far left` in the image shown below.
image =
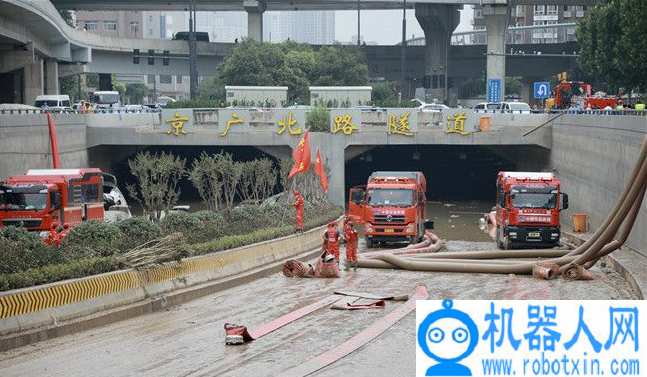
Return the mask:
<svg viewBox="0 0 647 377">
<path fill-rule="evenodd" d="M 32 268 L 27 271 L 12 274 L 0 274 L 0 291 L 49 284 L 67 279 L 77 279 L 114 271 L 116 269 L 116 259 L 114 257 L 106 257 Z"/>
</svg>

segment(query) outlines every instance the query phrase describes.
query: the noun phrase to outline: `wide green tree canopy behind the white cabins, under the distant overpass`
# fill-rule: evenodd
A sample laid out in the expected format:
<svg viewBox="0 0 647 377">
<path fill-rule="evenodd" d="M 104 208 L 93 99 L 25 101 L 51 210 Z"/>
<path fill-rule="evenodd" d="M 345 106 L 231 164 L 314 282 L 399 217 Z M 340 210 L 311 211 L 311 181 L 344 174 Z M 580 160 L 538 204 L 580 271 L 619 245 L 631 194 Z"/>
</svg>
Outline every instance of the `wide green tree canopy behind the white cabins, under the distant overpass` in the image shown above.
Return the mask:
<svg viewBox="0 0 647 377">
<path fill-rule="evenodd" d="M 308 103 L 310 85 L 366 85 L 368 80 L 364 55 L 355 46 L 315 51 L 291 41 L 245 39 L 220 63 L 213 85 L 287 86 L 290 102 Z"/>
</svg>

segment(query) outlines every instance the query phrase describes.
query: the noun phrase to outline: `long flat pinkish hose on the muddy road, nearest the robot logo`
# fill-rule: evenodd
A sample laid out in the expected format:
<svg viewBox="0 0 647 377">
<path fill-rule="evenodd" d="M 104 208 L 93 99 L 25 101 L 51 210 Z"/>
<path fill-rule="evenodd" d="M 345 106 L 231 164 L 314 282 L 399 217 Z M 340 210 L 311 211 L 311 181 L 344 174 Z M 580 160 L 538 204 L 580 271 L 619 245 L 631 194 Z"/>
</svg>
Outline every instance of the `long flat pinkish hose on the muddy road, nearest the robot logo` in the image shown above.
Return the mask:
<svg viewBox="0 0 647 377">
<path fill-rule="evenodd" d="M 325 368 L 377 338 L 389 327 L 393 326 L 407 314 L 411 313 L 416 308 L 416 300 L 426 300 L 427 298 L 429 298 L 427 288 L 424 285 L 417 286 L 414 289 L 413 296 L 411 296 L 411 298 L 399 308 L 393 310 L 383 318 L 378 319 L 370 327 L 364 329 L 362 332 L 337 347 L 326 351 L 305 363 L 299 364 L 292 369 L 282 372 L 281 376 L 308 376 L 322 368 Z"/>
</svg>

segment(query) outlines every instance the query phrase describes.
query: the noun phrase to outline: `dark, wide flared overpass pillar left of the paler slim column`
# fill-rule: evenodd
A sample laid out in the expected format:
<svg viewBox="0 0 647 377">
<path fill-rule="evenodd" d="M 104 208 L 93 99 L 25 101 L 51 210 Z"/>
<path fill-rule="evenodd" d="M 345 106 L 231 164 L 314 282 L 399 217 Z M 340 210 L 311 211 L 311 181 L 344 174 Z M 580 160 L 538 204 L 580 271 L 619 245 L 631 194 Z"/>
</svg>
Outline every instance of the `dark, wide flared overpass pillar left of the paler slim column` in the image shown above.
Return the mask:
<svg viewBox="0 0 647 377">
<path fill-rule="evenodd" d="M 446 102 L 448 98 L 449 51 L 452 33 L 460 22 L 455 5 L 416 4 L 416 19 L 425 33 L 425 78 L 427 102 Z M 428 88 L 427 88 L 428 87 Z"/>
</svg>

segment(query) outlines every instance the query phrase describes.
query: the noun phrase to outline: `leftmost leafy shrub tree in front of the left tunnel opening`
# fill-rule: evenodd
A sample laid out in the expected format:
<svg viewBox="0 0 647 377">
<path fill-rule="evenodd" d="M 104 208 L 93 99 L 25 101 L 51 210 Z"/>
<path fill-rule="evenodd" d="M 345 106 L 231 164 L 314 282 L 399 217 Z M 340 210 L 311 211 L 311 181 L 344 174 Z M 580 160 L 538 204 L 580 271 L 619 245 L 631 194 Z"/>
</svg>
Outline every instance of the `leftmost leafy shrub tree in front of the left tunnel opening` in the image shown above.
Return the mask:
<svg viewBox="0 0 647 377">
<path fill-rule="evenodd" d="M 138 184 L 129 184 L 126 189 L 145 212 L 159 220 L 162 211 L 173 208 L 180 197 L 179 183 L 186 174 L 185 165 L 186 159 L 172 153 L 140 152 L 128 161 Z"/>
</svg>

